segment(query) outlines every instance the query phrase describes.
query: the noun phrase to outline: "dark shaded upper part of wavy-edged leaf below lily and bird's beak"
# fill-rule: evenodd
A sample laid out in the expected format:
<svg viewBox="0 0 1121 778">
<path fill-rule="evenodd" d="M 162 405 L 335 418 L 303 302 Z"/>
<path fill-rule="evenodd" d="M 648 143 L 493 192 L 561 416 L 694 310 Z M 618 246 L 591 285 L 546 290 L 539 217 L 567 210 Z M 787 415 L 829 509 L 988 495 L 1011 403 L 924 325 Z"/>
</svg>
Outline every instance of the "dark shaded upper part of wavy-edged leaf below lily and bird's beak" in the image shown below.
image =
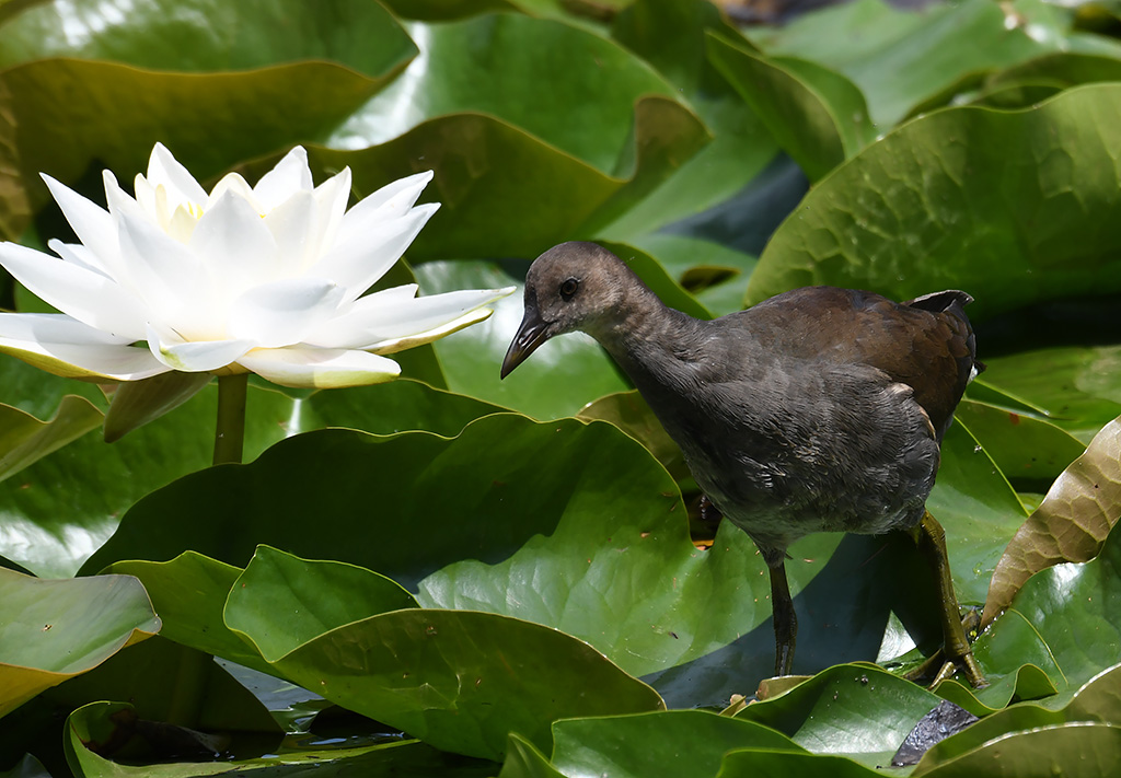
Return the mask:
<svg viewBox="0 0 1121 778">
<path fill-rule="evenodd" d="M 241 566 L 267 543 L 411 586 L 464 557 L 501 561 L 535 534 L 552 534 L 572 501 L 610 491 L 636 520 L 680 510 L 668 474 L 602 423 L 534 424 L 498 414 L 452 439 L 319 430 L 247 465 L 212 467 L 149 494 L 84 569 L 187 549 Z"/>
</svg>

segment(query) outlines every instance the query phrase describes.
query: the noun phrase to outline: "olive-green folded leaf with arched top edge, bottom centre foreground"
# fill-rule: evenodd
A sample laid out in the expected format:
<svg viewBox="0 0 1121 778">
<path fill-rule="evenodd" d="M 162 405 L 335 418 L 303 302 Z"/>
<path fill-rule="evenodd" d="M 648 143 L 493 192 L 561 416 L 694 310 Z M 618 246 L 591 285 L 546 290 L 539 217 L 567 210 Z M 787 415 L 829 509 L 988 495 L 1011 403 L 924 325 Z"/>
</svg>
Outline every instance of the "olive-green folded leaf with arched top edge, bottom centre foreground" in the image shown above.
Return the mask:
<svg viewBox="0 0 1121 778">
<path fill-rule="evenodd" d="M 282 613 L 238 627 L 259 645 L 269 617 L 282 633 Z M 547 748 L 557 719 L 664 707 L 654 689 L 586 643 L 493 613 L 392 611 L 325 632 L 272 664 L 432 745 L 490 759 L 501 759 L 510 732 Z"/>
</svg>

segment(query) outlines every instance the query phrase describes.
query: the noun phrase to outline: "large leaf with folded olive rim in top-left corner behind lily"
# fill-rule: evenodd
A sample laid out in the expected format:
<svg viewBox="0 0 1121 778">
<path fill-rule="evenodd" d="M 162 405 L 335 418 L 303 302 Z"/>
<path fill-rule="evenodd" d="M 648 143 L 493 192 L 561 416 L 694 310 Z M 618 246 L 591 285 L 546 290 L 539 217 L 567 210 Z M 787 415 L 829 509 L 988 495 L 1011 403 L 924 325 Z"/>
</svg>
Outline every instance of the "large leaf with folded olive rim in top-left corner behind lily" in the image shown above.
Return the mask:
<svg viewBox="0 0 1121 778">
<path fill-rule="evenodd" d="M 109 167 L 131 180 L 163 140 L 197 177 L 213 176 L 324 137 L 416 54 L 385 9 L 359 0 L 145 0 L 127 13 L 38 3 L 0 39 L 13 64 L 0 74 L 10 115 L 0 146 L 18 149 L 0 156 L 8 237 L 46 201 L 40 170 L 74 183 Z"/>
</svg>

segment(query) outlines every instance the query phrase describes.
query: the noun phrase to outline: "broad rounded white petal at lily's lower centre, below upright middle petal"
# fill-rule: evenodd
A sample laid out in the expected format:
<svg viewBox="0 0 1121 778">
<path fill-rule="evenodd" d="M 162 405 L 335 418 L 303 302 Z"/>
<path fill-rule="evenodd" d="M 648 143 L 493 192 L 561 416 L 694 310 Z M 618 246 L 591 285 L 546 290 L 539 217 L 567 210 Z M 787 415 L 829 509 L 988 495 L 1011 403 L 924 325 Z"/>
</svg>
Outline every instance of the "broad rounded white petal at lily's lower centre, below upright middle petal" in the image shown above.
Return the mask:
<svg viewBox="0 0 1121 778">
<path fill-rule="evenodd" d="M 267 349 L 299 343 L 339 311 L 343 289 L 321 278 L 289 278 L 250 289 L 230 306 L 230 337 Z"/>
</svg>

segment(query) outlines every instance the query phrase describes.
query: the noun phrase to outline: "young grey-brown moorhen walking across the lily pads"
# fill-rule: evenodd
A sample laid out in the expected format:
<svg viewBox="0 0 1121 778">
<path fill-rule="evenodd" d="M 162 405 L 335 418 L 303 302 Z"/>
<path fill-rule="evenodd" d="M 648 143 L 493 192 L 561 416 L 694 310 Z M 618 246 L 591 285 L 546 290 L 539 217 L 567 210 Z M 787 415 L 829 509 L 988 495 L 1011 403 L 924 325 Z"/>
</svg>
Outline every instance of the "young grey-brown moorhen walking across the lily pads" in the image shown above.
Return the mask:
<svg viewBox="0 0 1121 778">
<path fill-rule="evenodd" d="M 812 286 L 698 319 L 666 306 L 614 253 L 571 241 L 530 265 L 500 374 L 568 332 L 606 350 L 680 447 L 704 498 L 759 548 L 776 676 L 791 673 L 797 637 L 787 548 L 813 532 L 899 530 L 938 585 L 936 679 L 963 672 L 981 687 L 945 531 L 926 510 L 943 436 L 983 369 L 964 312 L 971 302 L 958 290 L 895 303 Z"/>
</svg>

